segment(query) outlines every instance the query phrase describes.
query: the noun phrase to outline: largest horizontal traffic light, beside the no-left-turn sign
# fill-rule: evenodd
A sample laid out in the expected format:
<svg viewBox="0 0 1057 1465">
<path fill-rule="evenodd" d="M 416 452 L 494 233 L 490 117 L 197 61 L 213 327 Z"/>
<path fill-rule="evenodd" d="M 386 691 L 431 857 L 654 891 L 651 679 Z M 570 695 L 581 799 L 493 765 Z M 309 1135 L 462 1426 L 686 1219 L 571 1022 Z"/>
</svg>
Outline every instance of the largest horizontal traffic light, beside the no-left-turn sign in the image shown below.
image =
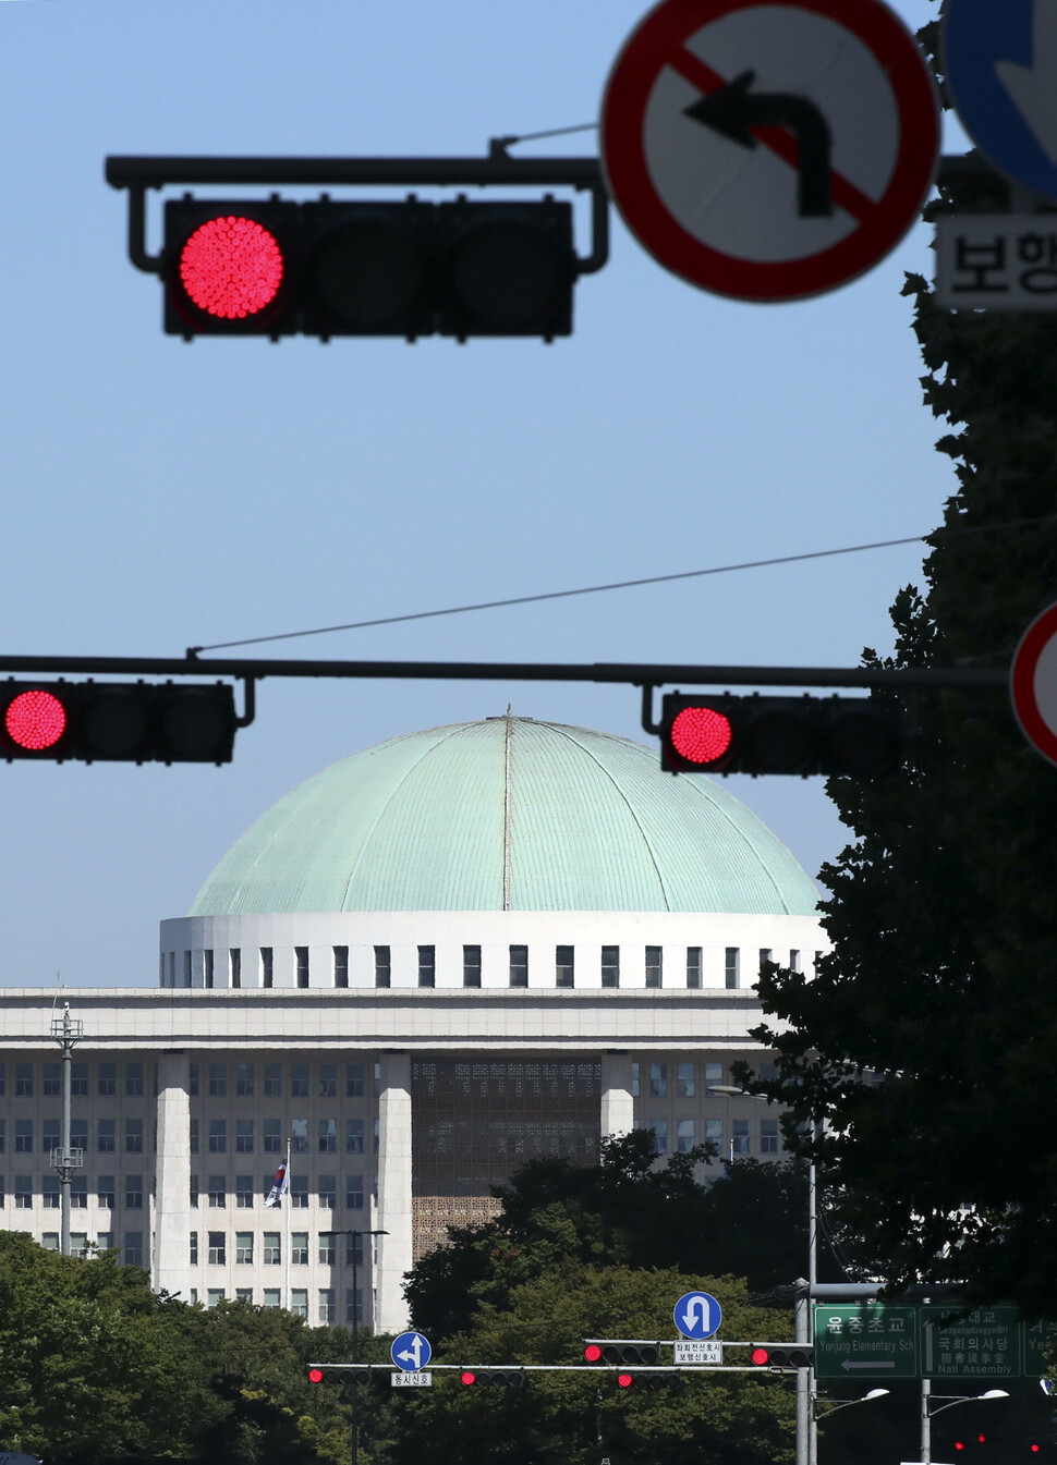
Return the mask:
<svg viewBox="0 0 1057 1465">
<path fill-rule="evenodd" d="M 572 333 L 572 205 L 169 199 L 170 335 Z"/>
</svg>

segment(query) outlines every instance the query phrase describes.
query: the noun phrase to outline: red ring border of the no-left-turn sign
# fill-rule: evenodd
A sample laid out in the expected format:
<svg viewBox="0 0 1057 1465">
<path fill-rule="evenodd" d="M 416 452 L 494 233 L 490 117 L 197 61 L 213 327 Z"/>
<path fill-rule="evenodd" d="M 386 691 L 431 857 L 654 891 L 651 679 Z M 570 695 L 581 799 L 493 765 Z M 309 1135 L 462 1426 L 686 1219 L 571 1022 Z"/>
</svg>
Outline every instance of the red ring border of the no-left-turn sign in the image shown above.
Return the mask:
<svg viewBox="0 0 1057 1465">
<path fill-rule="evenodd" d="M 839 245 L 805 259 L 739 259 L 701 243 L 669 212 L 654 188 L 642 146 L 645 108 L 673 48 L 682 47 L 710 21 L 759 4 L 809 10 L 852 31 L 888 76 L 900 114 L 900 136 L 928 139 L 931 135 L 927 167 L 915 166 L 916 148 L 900 149 L 888 188 L 877 205 L 875 217 L 890 215 L 887 227 L 871 230 L 861 224 Z M 853 18 L 849 10 L 856 10 Z M 865 274 L 907 231 L 935 176 L 940 107 L 935 84 L 913 38 L 881 0 L 661 0 L 639 22 L 613 64 L 603 97 L 600 151 L 610 195 L 625 223 L 673 274 L 732 299 L 802 300 Z"/>
</svg>

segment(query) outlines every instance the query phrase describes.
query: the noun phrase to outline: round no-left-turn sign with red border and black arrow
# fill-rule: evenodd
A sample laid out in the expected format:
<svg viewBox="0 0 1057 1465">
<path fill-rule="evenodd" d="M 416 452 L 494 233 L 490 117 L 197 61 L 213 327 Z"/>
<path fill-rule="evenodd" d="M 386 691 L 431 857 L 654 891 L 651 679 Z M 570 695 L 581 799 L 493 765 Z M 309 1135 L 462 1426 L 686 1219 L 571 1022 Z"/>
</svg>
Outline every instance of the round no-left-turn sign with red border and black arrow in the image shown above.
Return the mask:
<svg viewBox="0 0 1057 1465">
<path fill-rule="evenodd" d="M 639 243 L 740 300 L 869 270 L 940 149 L 932 78 L 883 0 L 661 0 L 613 66 L 600 132 Z"/>
</svg>

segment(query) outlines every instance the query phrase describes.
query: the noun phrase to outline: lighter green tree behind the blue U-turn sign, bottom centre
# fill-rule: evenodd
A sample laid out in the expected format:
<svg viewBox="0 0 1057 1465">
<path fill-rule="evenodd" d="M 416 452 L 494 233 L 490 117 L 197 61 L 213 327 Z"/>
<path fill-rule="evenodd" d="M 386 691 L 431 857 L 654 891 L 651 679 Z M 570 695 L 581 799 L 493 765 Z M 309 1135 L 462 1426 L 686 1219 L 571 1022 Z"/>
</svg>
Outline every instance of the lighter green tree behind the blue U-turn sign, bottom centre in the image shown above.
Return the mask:
<svg viewBox="0 0 1057 1465">
<path fill-rule="evenodd" d="M 790 1336 L 789 1314 L 751 1304 L 745 1282 L 734 1277 L 576 1261 L 512 1288 L 501 1307 L 482 1302 L 471 1326 L 444 1340 L 440 1361 L 578 1364 L 583 1336 L 670 1338 L 674 1301 L 698 1288 L 720 1298 L 724 1336 Z M 522 1390 L 466 1389 L 457 1374 L 435 1371 L 432 1389 L 396 1403 L 375 1461 L 597 1465 L 608 1455 L 614 1465 L 682 1465 L 688 1458 L 759 1465 L 793 1458 L 793 1395 L 770 1376 L 696 1374 L 673 1393 L 629 1393 L 611 1368 L 529 1371 Z"/>
</svg>

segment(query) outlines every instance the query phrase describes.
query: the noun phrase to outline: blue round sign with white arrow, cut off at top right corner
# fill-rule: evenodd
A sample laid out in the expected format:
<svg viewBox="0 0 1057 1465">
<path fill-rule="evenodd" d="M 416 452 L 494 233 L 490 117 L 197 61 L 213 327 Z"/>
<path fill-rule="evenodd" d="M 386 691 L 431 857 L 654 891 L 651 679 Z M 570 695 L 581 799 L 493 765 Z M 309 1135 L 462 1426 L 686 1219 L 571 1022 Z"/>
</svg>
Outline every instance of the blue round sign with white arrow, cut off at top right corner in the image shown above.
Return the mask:
<svg viewBox="0 0 1057 1465">
<path fill-rule="evenodd" d="M 1057 6 L 947 0 L 947 84 L 966 132 L 1009 177 L 1057 199 Z"/>
</svg>

